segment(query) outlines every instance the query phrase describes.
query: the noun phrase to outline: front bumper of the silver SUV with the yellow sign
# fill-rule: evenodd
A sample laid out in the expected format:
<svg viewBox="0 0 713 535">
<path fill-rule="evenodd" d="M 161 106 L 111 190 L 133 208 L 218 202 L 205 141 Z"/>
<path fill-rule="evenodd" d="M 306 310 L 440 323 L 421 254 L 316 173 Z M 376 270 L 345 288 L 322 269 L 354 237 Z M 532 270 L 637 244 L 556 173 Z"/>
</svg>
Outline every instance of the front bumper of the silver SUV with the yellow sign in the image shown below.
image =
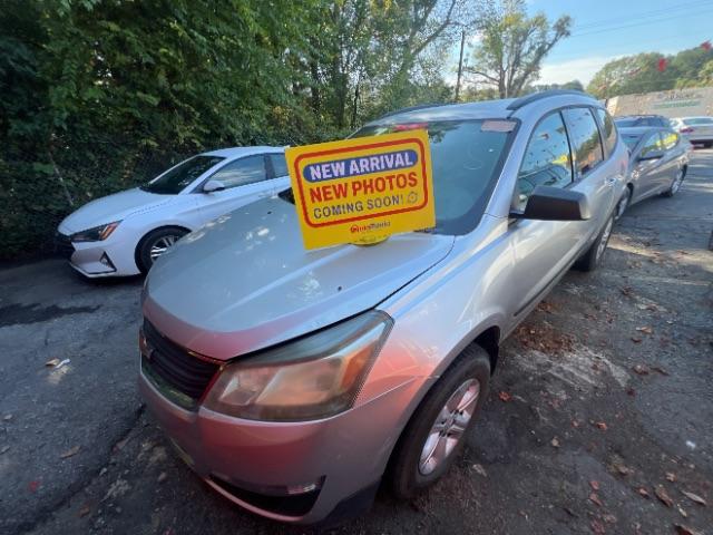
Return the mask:
<svg viewBox="0 0 713 535">
<path fill-rule="evenodd" d="M 224 416 L 199 407 L 185 410 L 165 397 L 141 372 L 139 390 L 179 456 L 215 490 L 258 515 L 294 524 L 314 524 L 350 498 L 375 492 L 403 427 L 404 410 L 423 386 L 413 379 L 332 418 L 304 422 L 265 422 Z M 252 499 L 265 488 L 321 489 L 309 510 Z M 231 486 L 241 492 L 232 492 Z M 368 493 L 369 494 L 369 493 Z M 373 494 L 372 494 L 373 495 Z M 371 498 L 361 499 L 361 507 Z M 354 510 L 352 513 L 359 513 Z"/>
</svg>

